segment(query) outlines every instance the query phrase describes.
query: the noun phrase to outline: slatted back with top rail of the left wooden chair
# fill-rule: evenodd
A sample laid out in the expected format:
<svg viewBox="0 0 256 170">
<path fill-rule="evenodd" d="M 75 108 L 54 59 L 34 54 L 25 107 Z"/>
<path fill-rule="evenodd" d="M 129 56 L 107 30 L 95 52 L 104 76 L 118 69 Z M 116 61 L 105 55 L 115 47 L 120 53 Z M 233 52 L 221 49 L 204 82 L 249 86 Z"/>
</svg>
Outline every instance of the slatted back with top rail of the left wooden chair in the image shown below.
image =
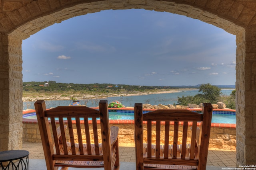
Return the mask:
<svg viewBox="0 0 256 170">
<path fill-rule="evenodd" d="M 72 106 L 72 107 L 74 108 L 76 106 Z M 100 155 L 99 142 L 98 142 L 98 129 L 100 130 L 100 127 L 97 127 L 97 118 L 100 119 L 99 111 L 95 109 L 91 109 L 86 106 L 77 106 L 77 107 L 80 107 L 80 108 L 70 110 L 70 106 L 58 106 L 53 109 L 45 111 L 46 117 L 50 117 L 53 134 L 56 134 L 58 124 L 60 127 L 62 143 L 59 142 L 57 135 L 53 135 L 55 146 L 57 146 L 56 154 L 76 155 L 77 152 L 76 152 L 75 143 L 78 143 L 79 150 L 81 150 L 82 154 L 84 154 L 82 151 L 84 147 L 83 144 L 86 144 L 87 155 L 92 155 L 92 154 Z M 83 110 L 84 110 L 84 114 L 81 114 Z M 61 114 L 57 114 L 57 113 L 61 113 Z M 88 113 L 88 114 L 85 114 L 85 113 Z M 92 122 L 93 133 L 90 132 L 90 129 L 89 129 L 89 119 L 91 119 L 90 121 Z M 78 132 L 77 134 L 74 134 L 74 131 L 75 131 L 75 129 L 73 128 L 73 126 L 75 126 L 74 120 L 77 120 L 76 122 L 78 122 L 76 124 L 76 129 L 77 129 L 76 131 Z M 67 127 L 68 127 L 67 131 L 65 130 L 65 124 L 67 124 Z M 85 131 L 86 141 L 82 141 L 81 130 Z M 90 135 L 92 135 L 93 138 L 90 137 Z M 95 146 L 94 148 L 95 150 L 93 151 L 91 150 L 91 147 L 88 147 L 88 146 L 91 146 L 91 141 Z M 70 142 L 70 146 L 67 145 L 67 142 Z"/>
</svg>

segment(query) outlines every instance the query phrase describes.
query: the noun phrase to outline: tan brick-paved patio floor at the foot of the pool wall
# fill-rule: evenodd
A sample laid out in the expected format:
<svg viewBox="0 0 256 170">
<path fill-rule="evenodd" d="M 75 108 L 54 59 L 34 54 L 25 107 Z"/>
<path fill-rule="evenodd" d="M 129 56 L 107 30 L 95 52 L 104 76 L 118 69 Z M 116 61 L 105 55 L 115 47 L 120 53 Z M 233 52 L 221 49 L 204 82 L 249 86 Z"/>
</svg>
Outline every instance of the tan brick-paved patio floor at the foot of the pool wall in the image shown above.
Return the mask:
<svg viewBox="0 0 256 170">
<path fill-rule="evenodd" d="M 30 152 L 29 159 L 44 159 L 42 143 L 23 143 L 22 149 Z M 135 162 L 134 143 L 119 144 L 120 162 Z M 209 150 L 207 166 L 236 167 L 236 151 Z"/>
</svg>

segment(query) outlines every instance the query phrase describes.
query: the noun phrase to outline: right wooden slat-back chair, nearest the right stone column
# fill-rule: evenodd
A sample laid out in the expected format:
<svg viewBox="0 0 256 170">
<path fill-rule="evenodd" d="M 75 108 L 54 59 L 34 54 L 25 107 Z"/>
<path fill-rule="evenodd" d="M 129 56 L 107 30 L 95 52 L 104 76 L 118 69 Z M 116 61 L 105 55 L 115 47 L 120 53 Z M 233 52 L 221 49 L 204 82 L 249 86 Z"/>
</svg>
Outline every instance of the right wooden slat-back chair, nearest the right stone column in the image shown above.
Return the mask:
<svg viewBox="0 0 256 170">
<path fill-rule="evenodd" d="M 202 122 L 196 134 L 198 121 Z M 142 114 L 142 104 L 135 104 L 136 170 L 206 170 L 211 121 L 211 104 L 203 104 L 202 114 L 187 109 L 159 109 Z M 144 129 L 143 124 L 147 125 Z"/>
</svg>

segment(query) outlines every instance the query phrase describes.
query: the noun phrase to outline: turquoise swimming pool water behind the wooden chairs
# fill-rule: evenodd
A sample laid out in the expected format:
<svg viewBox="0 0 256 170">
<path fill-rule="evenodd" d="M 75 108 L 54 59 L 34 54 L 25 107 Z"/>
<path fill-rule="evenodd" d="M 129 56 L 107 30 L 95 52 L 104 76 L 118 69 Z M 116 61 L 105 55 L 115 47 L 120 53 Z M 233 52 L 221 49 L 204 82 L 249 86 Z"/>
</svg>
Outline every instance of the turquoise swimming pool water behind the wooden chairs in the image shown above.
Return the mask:
<svg viewBox="0 0 256 170">
<path fill-rule="evenodd" d="M 147 113 L 149 111 L 143 111 Z M 24 113 L 23 118 L 36 119 L 36 112 Z M 109 119 L 112 120 L 134 120 L 134 110 L 109 110 Z M 212 123 L 231 123 L 236 124 L 235 111 L 212 111 Z"/>
</svg>

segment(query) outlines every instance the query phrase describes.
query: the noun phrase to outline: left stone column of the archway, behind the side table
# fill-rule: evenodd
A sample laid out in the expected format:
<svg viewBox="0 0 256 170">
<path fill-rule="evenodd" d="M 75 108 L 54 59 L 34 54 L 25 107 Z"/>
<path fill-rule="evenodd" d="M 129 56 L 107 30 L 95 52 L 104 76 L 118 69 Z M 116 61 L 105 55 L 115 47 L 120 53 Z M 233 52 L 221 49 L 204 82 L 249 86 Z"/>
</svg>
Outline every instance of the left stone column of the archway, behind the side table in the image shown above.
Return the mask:
<svg viewBox="0 0 256 170">
<path fill-rule="evenodd" d="M 0 150 L 22 148 L 22 39 L 0 33 Z"/>
</svg>

